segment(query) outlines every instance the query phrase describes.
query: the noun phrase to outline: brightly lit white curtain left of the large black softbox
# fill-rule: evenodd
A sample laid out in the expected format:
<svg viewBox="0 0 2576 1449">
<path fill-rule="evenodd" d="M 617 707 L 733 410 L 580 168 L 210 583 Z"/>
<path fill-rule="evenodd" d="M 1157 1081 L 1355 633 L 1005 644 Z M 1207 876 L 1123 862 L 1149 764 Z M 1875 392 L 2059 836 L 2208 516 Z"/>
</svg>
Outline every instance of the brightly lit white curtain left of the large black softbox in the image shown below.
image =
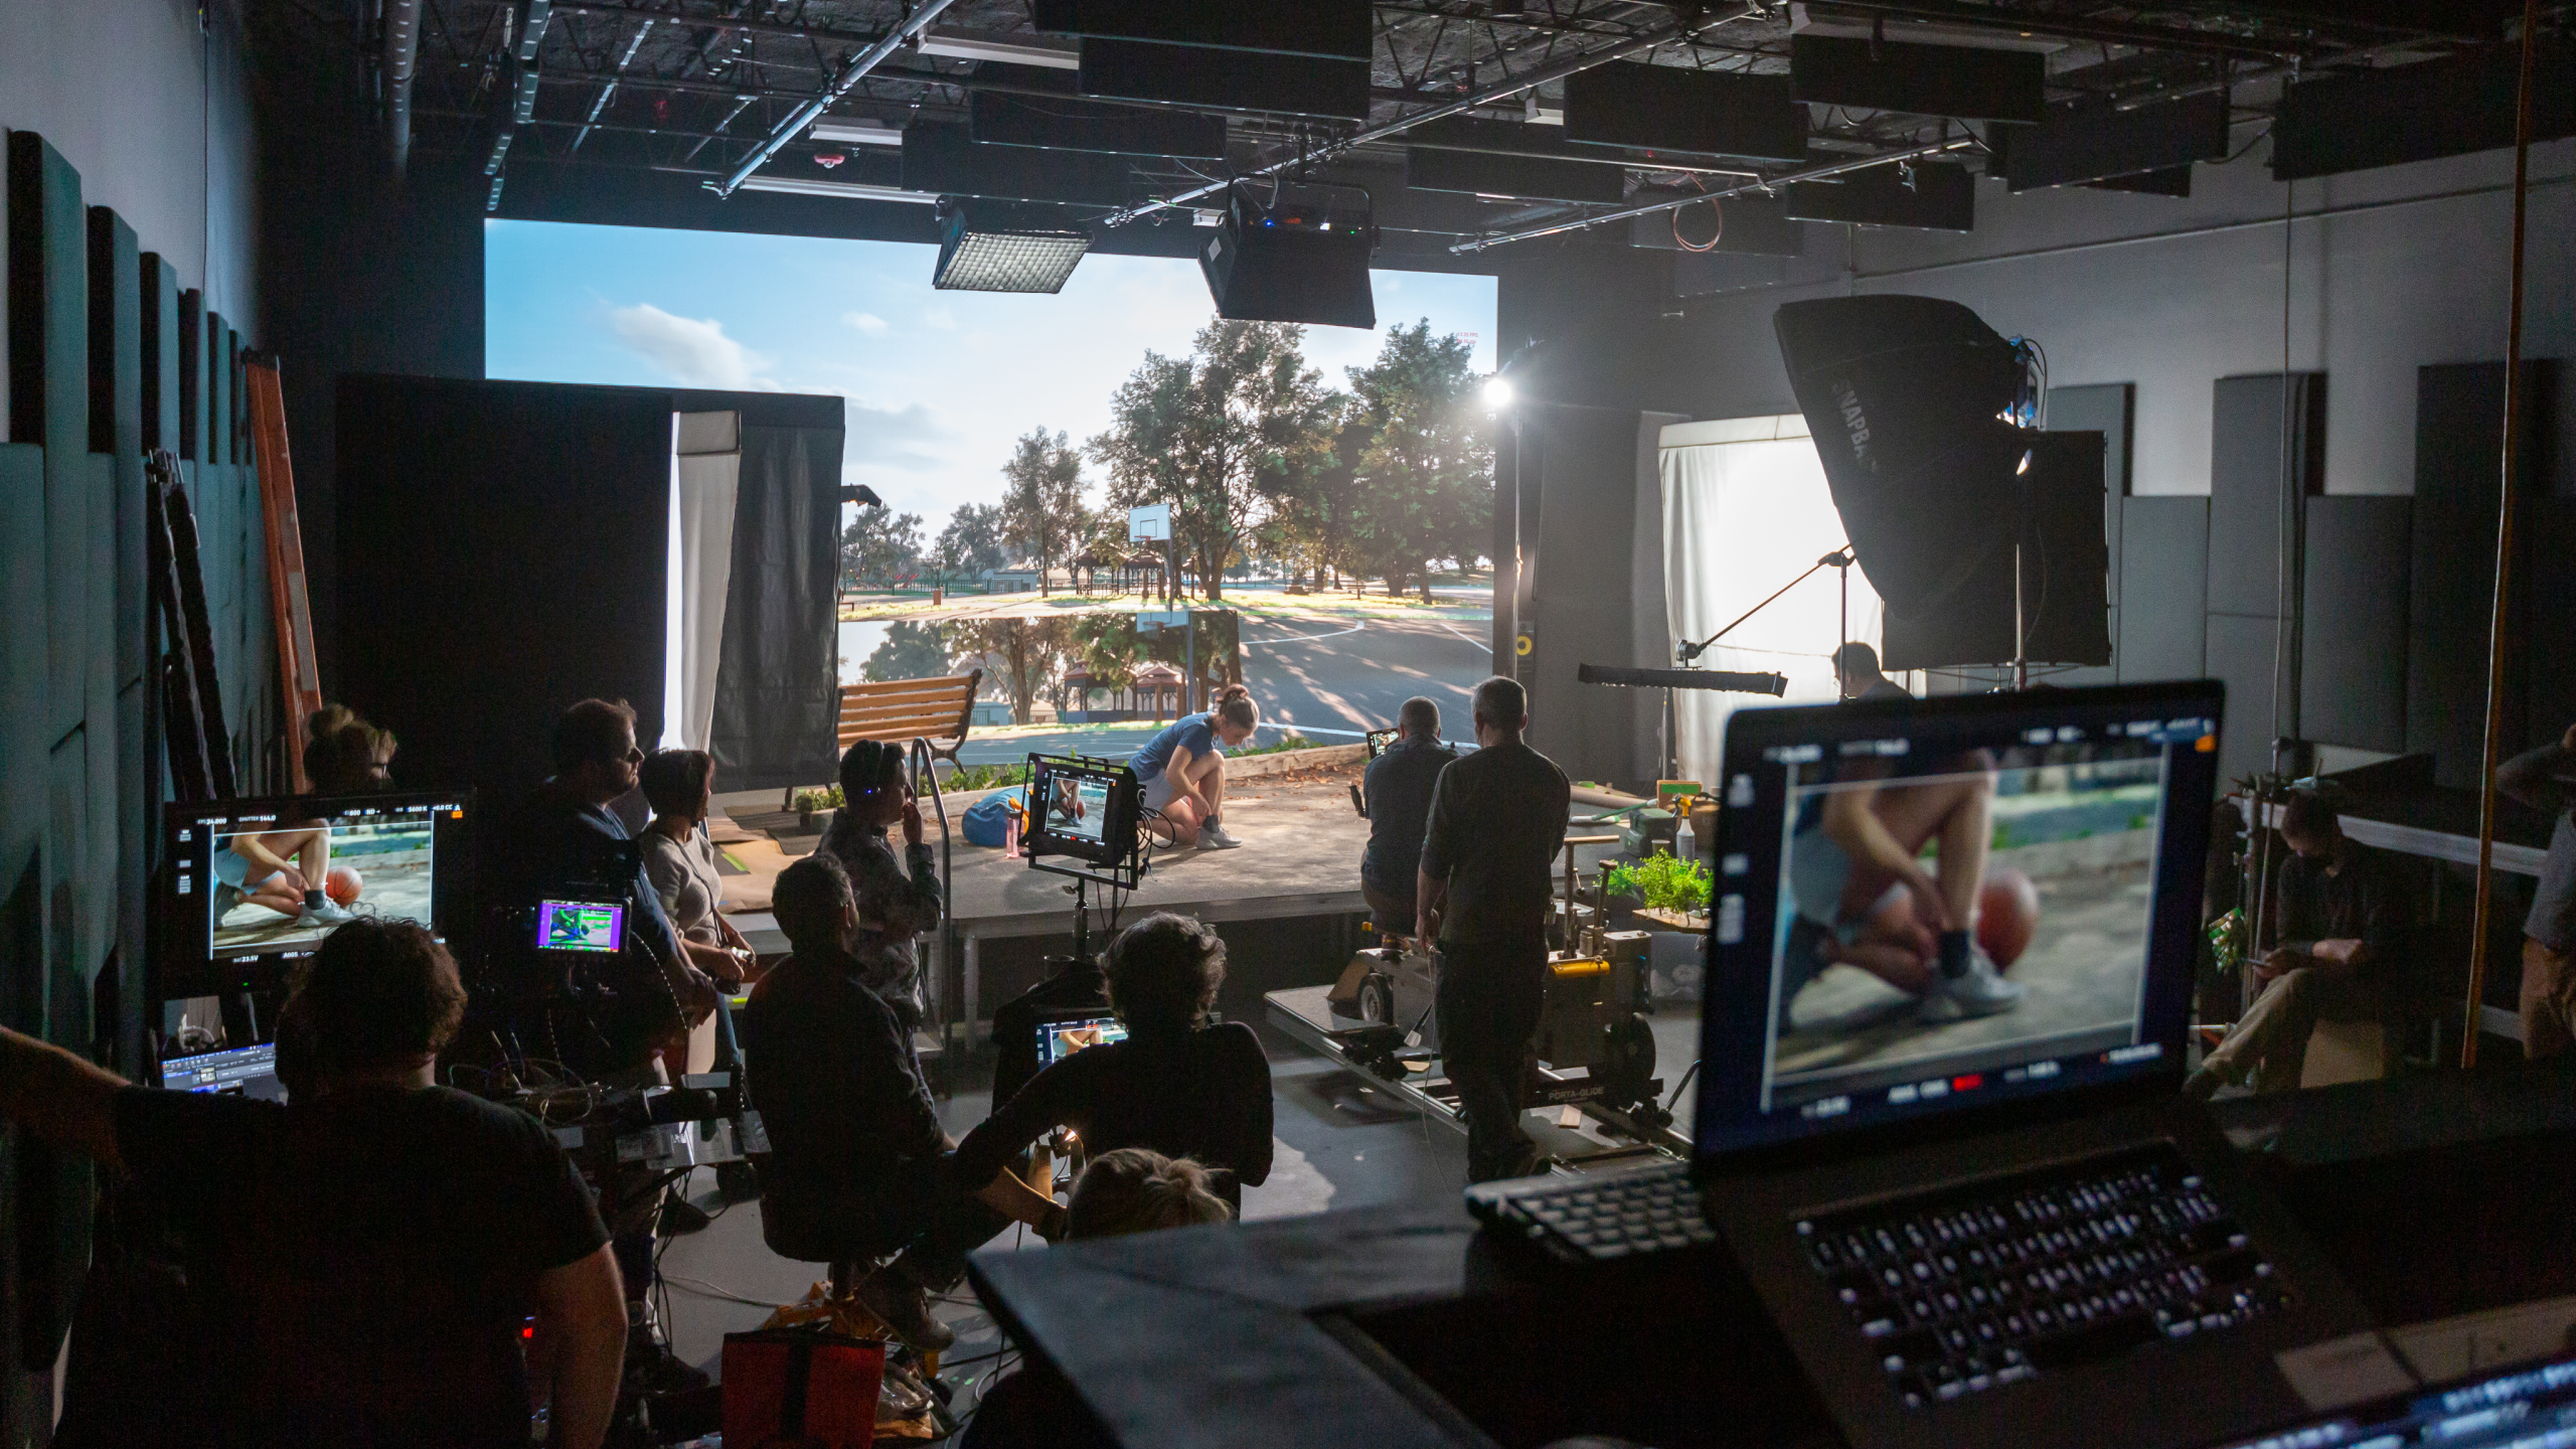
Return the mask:
<svg viewBox="0 0 2576 1449">
<path fill-rule="evenodd" d="M 1806 418 L 1674 423 L 1662 433 L 1664 608 L 1672 637 L 1705 639 L 1839 549 L 1842 516 Z M 1878 645 L 1878 593 L 1852 575 L 1850 637 Z M 1700 668 L 1788 676 L 1788 699 L 1834 699 L 1837 570 L 1816 570 L 1700 655 Z M 1726 717 L 1757 694 L 1677 691 L 1682 779 L 1713 781 Z"/>
</svg>

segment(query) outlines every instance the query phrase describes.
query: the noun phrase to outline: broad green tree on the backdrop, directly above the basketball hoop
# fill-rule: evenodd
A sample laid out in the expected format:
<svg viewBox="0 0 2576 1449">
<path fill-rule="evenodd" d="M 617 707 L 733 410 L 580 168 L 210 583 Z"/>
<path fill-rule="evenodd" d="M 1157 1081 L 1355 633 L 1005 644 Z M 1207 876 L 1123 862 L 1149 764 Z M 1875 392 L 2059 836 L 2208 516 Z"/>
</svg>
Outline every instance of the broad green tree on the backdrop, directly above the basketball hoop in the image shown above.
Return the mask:
<svg viewBox="0 0 2576 1449">
<path fill-rule="evenodd" d="M 1211 601 L 1270 495 L 1329 454 L 1334 397 L 1303 340 L 1285 322 L 1208 322 L 1190 356 L 1146 353 L 1090 441 L 1110 503 L 1172 505 L 1172 539 Z"/>
</svg>

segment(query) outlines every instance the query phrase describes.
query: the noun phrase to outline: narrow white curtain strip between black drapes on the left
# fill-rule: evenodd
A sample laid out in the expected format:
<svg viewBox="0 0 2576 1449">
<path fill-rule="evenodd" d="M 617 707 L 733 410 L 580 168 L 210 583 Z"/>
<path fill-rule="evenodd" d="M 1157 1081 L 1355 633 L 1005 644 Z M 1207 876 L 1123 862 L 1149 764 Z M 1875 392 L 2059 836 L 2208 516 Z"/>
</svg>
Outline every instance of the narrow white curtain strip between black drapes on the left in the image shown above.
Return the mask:
<svg viewBox="0 0 2576 1449">
<path fill-rule="evenodd" d="M 724 596 L 734 583 L 742 415 L 675 413 L 670 469 L 670 650 L 662 745 L 703 750 L 716 724 Z"/>
</svg>

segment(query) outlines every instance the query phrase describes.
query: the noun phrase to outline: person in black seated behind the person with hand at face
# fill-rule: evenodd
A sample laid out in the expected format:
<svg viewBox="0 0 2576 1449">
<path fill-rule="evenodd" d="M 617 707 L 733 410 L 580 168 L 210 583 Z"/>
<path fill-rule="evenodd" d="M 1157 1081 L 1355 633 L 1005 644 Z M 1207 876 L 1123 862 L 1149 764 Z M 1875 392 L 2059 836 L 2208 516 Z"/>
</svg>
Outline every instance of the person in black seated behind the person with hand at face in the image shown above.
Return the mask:
<svg viewBox="0 0 2576 1449">
<path fill-rule="evenodd" d="M 956 1333 L 930 1318 L 930 1294 L 956 1287 L 966 1253 L 1012 1220 L 1059 1238 L 1064 1209 L 1010 1173 L 961 1173 L 951 1160 L 912 1029 L 842 944 L 858 902 L 840 861 L 817 851 L 791 864 L 773 900 L 796 954 L 760 977 L 742 1011 L 752 1106 L 770 1134 L 762 1214 L 819 1225 L 855 1250 L 902 1245 L 858 1299 L 935 1354 Z"/>
</svg>

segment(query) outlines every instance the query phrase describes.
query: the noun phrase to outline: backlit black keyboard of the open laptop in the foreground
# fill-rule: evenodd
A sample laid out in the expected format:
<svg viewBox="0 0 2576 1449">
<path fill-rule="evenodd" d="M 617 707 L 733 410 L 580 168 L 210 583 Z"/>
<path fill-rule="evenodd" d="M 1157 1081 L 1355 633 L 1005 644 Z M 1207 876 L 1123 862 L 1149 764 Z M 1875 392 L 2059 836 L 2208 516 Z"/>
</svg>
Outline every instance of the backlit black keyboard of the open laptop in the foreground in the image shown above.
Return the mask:
<svg viewBox="0 0 2576 1449">
<path fill-rule="evenodd" d="M 2272 1263 L 2169 1145 L 1795 1222 L 1922 1408 L 2282 1305 Z"/>
</svg>

